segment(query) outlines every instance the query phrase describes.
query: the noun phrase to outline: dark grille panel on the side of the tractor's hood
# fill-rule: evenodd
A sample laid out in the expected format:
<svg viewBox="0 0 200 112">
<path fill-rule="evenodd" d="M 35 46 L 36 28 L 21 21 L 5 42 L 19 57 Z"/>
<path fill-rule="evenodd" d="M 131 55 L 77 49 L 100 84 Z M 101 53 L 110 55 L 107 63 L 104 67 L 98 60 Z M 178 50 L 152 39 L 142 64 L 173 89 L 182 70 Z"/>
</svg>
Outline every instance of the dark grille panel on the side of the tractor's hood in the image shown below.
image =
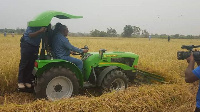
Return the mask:
<svg viewBox="0 0 200 112">
<path fill-rule="evenodd" d="M 132 67 L 134 60 L 135 60 L 134 58 L 112 58 L 111 62 L 123 63 L 125 65 Z"/>
</svg>

